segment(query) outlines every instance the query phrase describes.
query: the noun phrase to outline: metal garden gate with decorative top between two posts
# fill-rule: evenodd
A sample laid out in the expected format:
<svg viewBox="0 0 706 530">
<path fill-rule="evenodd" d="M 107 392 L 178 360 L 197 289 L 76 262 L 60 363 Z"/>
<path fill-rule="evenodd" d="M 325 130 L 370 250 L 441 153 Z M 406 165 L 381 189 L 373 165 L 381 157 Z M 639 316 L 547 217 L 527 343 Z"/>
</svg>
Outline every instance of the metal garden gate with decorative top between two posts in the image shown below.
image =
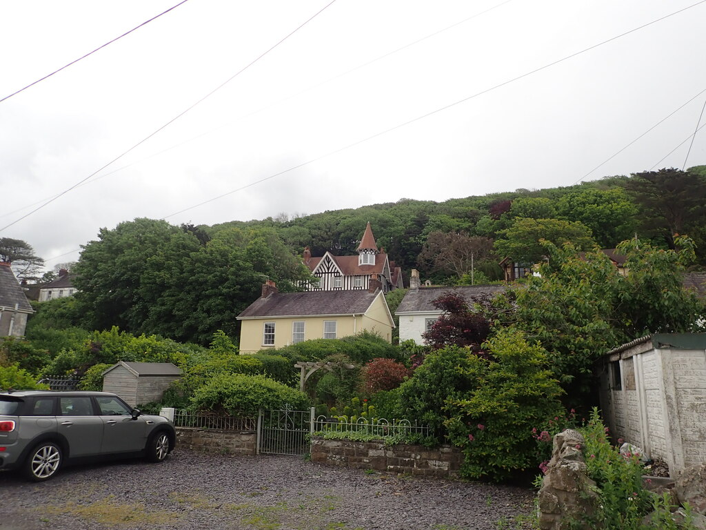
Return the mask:
<svg viewBox="0 0 706 530">
<path fill-rule="evenodd" d="M 302 455 L 311 452 L 314 408 L 260 411 L 257 453 Z"/>
</svg>

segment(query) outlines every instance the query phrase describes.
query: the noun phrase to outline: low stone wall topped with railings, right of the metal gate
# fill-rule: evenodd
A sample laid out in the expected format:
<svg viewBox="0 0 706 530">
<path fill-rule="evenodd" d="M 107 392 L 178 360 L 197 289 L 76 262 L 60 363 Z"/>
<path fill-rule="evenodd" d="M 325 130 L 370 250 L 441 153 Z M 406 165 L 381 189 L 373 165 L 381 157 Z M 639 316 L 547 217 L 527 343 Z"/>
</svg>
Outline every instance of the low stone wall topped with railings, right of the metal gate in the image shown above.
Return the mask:
<svg viewBox="0 0 706 530">
<path fill-rule="evenodd" d="M 451 478 L 457 476 L 463 455 L 448 445 L 429 449 L 421 445 L 385 446 L 383 442 L 313 438 L 311 460 L 356 469 Z"/>
</svg>

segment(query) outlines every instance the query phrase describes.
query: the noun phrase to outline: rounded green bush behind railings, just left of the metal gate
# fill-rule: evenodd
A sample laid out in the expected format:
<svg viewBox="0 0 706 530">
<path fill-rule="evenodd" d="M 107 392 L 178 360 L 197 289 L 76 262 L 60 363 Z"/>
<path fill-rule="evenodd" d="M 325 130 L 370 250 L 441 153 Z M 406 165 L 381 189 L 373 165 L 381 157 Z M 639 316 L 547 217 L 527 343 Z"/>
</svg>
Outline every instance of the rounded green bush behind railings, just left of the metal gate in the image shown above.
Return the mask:
<svg viewBox="0 0 706 530">
<path fill-rule="evenodd" d="M 309 399 L 299 390 L 263 375 L 215 375 L 196 389 L 191 399 L 195 411 L 233 415 L 256 415 L 260 408 L 279 409 L 285 405 L 301 411 L 309 407 Z"/>
</svg>

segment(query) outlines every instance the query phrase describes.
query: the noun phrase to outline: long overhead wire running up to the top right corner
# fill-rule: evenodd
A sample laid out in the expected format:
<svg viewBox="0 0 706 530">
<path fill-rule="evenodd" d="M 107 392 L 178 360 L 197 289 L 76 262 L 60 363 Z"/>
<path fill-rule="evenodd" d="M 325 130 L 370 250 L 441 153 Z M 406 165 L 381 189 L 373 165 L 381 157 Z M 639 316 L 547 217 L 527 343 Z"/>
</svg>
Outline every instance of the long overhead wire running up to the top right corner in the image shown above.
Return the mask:
<svg viewBox="0 0 706 530">
<path fill-rule="evenodd" d="M 685 8 L 681 8 L 681 9 L 679 9 L 678 11 L 674 11 L 674 13 L 669 13 L 669 15 L 662 16 L 662 17 L 660 17 L 660 18 L 657 18 L 657 19 L 655 19 L 655 20 L 652 20 L 652 22 L 648 22 L 648 23 L 646 23 L 646 24 L 640 25 L 640 26 L 638 26 L 637 28 L 633 28 L 632 30 L 626 31 L 625 33 L 621 33 L 620 35 L 616 35 L 615 37 L 611 37 L 611 38 L 609 38 L 608 40 L 604 40 L 604 41 L 602 41 L 602 42 L 599 42 L 599 43 L 596 44 L 596 45 L 593 45 L 593 46 L 587 47 L 587 48 L 585 48 L 585 49 L 582 49 L 582 50 L 580 50 L 580 52 L 575 52 L 575 53 L 573 53 L 573 54 L 567 55 L 566 57 L 563 57 L 562 59 L 557 59 L 556 61 L 552 61 L 552 62 L 549 63 L 549 64 L 545 64 L 544 66 L 540 66 L 539 68 L 536 68 L 536 69 L 534 69 L 534 70 L 528 71 L 528 72 L 526 72 L 526 73 L 522 73 L 520 76 L 517 76 L 517 77 L 514 77 L 514 78 L 512 78 L 512 79 L 509 79 L 508 81 L 503 81 L 503 83 L 498 83 L 497 85 L 491 86 L 490 88 L 486 88 L 485 90 L 481 90 L 480 92 L 477 92 L 477 93 L 475 93 L 475 94 L 473 94 L 473 95 L 469 95 L 469 96 L 467 96 L 466 98 L 463 98 L 463 99 L 461 99 L 461 100 L 455 101 L 455 102 L 450 103 L 450 104 L 448 104 L 448 105 L 444 105 L 443 107 L 440 107 L 440 108 L 438 108 L 438 109 L 436 109 L 436 110 L 432 110 L 431 112 L 427 112 L 426 114 L 421 114 L 420 116 L 417 116 L 417 117 L 415 117 L 415 118 L 409 119 L 407 122 L 403 122 L 403 123 L 401 123 L 401 124 L 397 124 L 397 125 L 395 125 L 395 126 L 393 126 L 393 127 L 390 127 L 389 129 L 385 129 L 385 130 L 380 131 L 380 132 L 378 132 L 378 133 L 376 133 L 376 134 L 373 134 L 373 135 L 371 135 L 371 136 L 367 136 L 367 137 L 364 138 L 364 139 L 355 141 L 355 142 L 353 142 L 353 143 L 349 143 L 347 146 L 344 146 L 344 147 L 335 149 L 334 151 L 329 151 L 328 153 L 325 153 L 324 155 L 318 156 L 318 157 L 316 157 L 316 158 L 312 158 L 311 160 L 307 160 L 306 162 L 303 162 L 303 163 L 301 163 L 301 164 L 294 165 L 294 166 L 292 166 L 292 167 L 289 167 L 289 168 L 286 169 L 286 170 L 277 172 L 277 173 L 275 173 L 274 175 L 269 175 L 268 177 L 263 177 L 263 178 L 261 178 L 261 179 L 258 179 L 258 180 L 256 180 L 256 181 L 251 182 L 250 184 L 245 184 L 244 186 L 241 186 L 241 187 L 239 187 L 239 188 L 237 188 L 237 189 L 233 189 L 233 190 L 231 190 L 230 192 L 226 192 L 226 193 L 224 193 L 224 194 L 217 195 L 217 196 L 215 196 L 215 197 L 213 197 L 213 198 L 211 198 L 211 199 L 208 199 L 208 200 L 206 200 L 206 201 L 202 201 L 202 202 L 200 202 L 200 203 L 198 203 L 198 204 L 194 204 L 193 206 L 189 206 L 188 208 L 183 208 L 183 209 L 181 209 L 181 210 L 179 210 L 179 211 L 177 211 L 177 212 L 170 213 L 168 216 L 162 217 L 162 219 L 167 219 L 167 218 L 170 218 L 170 217 L 177 216 L 177 215 L 179 215 L 179 213 L 184 213 L 185 211 L 193 210 L 193 208 L 198 208 L 199 206 L 203 206 L 204 204 L 208 204 L 208 203 L 210 203 L 210 202 L 217 201 L 218 199 L 222 199 L 222 198 L 225 197 L 225 196 L 234 194 L 234 193 L 236 193 L 236 192 L 240 192 L 240 191 L 242 191 L 242 190 L 244 190 L 244 189 L 246 189 L 246 188 L 253 187 L 253 186 L 255 186 L 256 184 L 261 184 L 262 182 L 268 181 L 268 180 L 273 179 L 273 178 L 275 178 L 275 177 L 280 177 L 281 175 L 284 175 L 285 173 L 288 173 L 288 172 L 290 172 L 290 171 L 297 170 L 297 169 L 299 169 L 299 168 L 301 168 L 301 167 L 304 167 L 304 166 L 306 166 L 306 165 L 313 164 L 313 163 L 315 163 L 315 162 L 318 162 L 319 160 L 323 160 L 324 158 L 328 158 L 328 157 L 331 156 L 331 155 L 335 155 L 335 154 L 337 154 L 337 153 L 341 153 L 342 151 L 346 151 L 346 150 L 349 149 L 349 148 L 352 148 L 352 147 L 355 147 L 355 146 L 359 146 L 361 143 L 365 143 L 365 142 L 370 141 L 370 140 L 372 140 L 372 139 L 376 139 L 376 138 L 378 138 L 378 136 L 383 136 L 384 134 L 388 134 L 388 133 L 390 133 L 390 132 L 392 132 L 392 131 L 395 131 L 395 130 L 397 130 L 397 129 L 401 129 L 402 127 L 405 127 L 405 126 L 407 126 L 407 125 L 409 125 L 409 124 L 413 124 L 413 123 L 415 123 L 415 122 L 419 122 L 419 120 L 421 120 L 421 119 L 425 119 L 425 118 L 428 118 L 428 117 L 430 117 L 430 116 L 433 116 L 434 114 L 438 114 L 439 112 L 443 112 L 444 110 L 448 110 L 448 109 L 450 109 L 450 108 L 452 108 L 452 107 L 455 107 L 456 105 L 460 105 L 461 103 L 465 103 L 465 102 L 467 102 L 467 101 L 469 101 L 469 100 L 472 100 L 472 99 L 474 99 L 474 98 L 477 98 L 477 97 L 480 96 L 480 95 L 484 95 L 484 94 L 486 94 L 486 93 L 491 92 L 492 90 L 496 90 L 497 88 L 501 88 L 501 87 L 503 87 L 503 86 L 507 86 L 507 85 L 509 85 L 510 83 L 514 83 L 515 81 L 520 81 L 520 79 L 524 79 L 524 78 L 527 77 L 527 76 L 532 76 L 534 73 L 537 73 L 537 72 L 546 70 L 546 69 L 548 69 L 548 68 L 551 68 L 551 66 L 556 66 L 557 64 L 563 63 L 564 61 L 568 61 L 568 59 L 573 59 L 573 57 L 577 57 L 578 55 L 584 54 L 584 53 L 586 53 L 586 52 L 590 52 L 592 49 L 596 49 L 597 47 L 606 45 L 606 44 L 608 44 L 609 42 L 613 42 L 614 40 L 617 40 L 617 39 L 619 39 L 619 38 L 621 38 L 621 37 L 625 37 L 626 35 L 630 35 L 631 33 L 635 33 L 636 31 L 639 31 L 639 30 L 642 30 L 642 29 L 644 29 L 644 28 L 647 28 L 648 26 L 653 25 L 653 24 L 656 24 L 656 23 L 658 23 L 658 22 L 661 22 L 662 20 L 665 20 L 666 18 L 669 18 L 669 17 L 671 17 L 671 16 L 678 15 L 678 13 L 683 13 L 684 11 L 687 11 L 688 9 L 693 8 L 693 7 L 695 7 L 695 6 L 699 6 L 700 4 L 704 4 L 705 2 L 706 2 L 706 0 L 700 0 L 700 1 L 696 2 L 695 4 L 691 4 L 690 6 L 687 6 L 687 7 L 685 7 Z M 665 157 L 665 158 L 666 158 L 666 157 Z"/>
</svg>

